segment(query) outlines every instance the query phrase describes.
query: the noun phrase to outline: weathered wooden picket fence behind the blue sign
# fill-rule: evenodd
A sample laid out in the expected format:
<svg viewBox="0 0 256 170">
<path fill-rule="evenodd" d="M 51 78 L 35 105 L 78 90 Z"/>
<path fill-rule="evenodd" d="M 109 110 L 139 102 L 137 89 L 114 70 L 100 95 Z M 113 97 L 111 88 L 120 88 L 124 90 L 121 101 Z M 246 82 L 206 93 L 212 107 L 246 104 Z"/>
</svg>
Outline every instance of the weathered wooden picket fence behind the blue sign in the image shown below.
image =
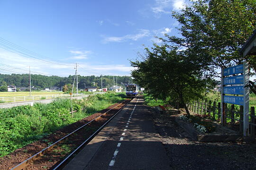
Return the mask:
<svg viewBox="0 0 256 170">
<path fill-rule="evenodd" d="M 236 105 L 238 106 L 238 105 Z M 188 104 L 188 109 L 200 115 L 206 115 L 209 119 L 220 121 L 221 103 L 220 102 L 192 102 Z M 235 107 L 234 104 L 225 103 L 224 126 L 229 125 L 232 129 L 239 123 L 239 132 L 243 133 L 243 106 Z M 255 108 L 250 108 L 249 113 L 249 135 L 255 137 L 256 128 Z M 227 124 L 228 123 L 228 124 Z"/>
</svg>

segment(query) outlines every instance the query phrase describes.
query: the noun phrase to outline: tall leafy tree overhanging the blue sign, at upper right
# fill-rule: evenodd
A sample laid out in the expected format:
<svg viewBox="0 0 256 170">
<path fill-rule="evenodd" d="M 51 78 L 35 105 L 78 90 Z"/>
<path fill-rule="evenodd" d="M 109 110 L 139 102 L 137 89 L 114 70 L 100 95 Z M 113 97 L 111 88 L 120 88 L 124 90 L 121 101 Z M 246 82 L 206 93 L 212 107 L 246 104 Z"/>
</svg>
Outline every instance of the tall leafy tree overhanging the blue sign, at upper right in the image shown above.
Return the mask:
<svg viewBox="0 0 256 170">
<path fill-rule="evenodd" d="M 192 0 L 192 5 L 173 12 L 182 36 L 167 36 L 164 42 L 187 49 L 187 54 L 209 76 L 217 68 L 249 62 L 250 74 L 256 71 L 256 57 L 243 57 L 239 50 L 256 29 L 256 0 Z M 256 85 L 250 81 L 256 93 Z"/>
</svg>

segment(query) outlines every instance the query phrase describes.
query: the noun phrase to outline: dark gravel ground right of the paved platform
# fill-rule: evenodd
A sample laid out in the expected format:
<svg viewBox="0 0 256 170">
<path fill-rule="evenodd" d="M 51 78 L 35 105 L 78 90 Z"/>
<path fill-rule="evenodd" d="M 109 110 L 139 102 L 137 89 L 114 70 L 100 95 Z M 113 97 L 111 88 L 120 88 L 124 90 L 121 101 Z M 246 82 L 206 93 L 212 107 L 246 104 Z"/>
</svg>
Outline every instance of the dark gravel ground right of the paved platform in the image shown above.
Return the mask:
<svg viewBox="0 0 256 170">
<path fill-rule="evenodd" d="M 256 144 L 192 141 L 175 113 L 151 112 L 174 170 L 256 170 Z"/>
</svg>

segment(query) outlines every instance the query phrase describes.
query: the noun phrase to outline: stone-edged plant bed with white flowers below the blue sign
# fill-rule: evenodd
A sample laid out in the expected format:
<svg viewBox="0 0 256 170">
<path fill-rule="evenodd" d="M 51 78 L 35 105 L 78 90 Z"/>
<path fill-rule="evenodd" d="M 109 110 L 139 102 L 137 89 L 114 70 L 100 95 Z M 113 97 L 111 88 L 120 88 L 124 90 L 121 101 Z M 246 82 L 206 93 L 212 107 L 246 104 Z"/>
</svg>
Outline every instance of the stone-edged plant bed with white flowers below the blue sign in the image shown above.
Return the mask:
<svg viewBox="0 0 256 170">
<path fill-rule="evenodd" d="M 175 121 L 196 141 L 237 141 L 242 135 L 207 119 L 207 115 L 192 114 L 189 118 L 182 111 Z"/>
</svg>

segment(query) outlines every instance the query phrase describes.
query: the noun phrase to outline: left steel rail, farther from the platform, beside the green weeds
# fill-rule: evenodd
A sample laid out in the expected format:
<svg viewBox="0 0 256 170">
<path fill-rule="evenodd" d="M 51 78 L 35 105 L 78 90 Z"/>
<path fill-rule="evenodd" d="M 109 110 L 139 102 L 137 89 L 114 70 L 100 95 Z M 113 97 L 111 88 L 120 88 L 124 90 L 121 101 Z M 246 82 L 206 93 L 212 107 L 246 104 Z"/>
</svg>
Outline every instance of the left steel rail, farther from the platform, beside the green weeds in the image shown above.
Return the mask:
<svg viewBox="0 0 256 170">
<path fill-rule="evenodd" d="M 117 106 L 111 108 L 110 110 L 113 110 L 114 108 L 118 107 L 120 104 L 122 104 L 123 102 L 119 103 Z M 129 103 L 129 102 L 128 102 Z M 127 103 L 127 104 L 128 104 Z M 126 105 L 127 105 L 126 104 Z M 126 106 L 125 105 L 125 106 Z M 124 107 L 125 107 L 124 106 Z M 120 109 L 122 110 L 123 107 Z M 46 147 L 45 149 L 43 149 L 42 151 L 36 153 L 35 155 L 31 156 L 30 158 L 28 158 L 27 160 L 19 163 L 18 165 L 16 165 L 15 167 L 13 167 L 11 170 L 22 170 L 23 168 L 25 168 L 27 165 L 31 164 L 33 161 L 36 161 L 38 158 L 40 158 L 41 156 L 43 156 L 45 153 L 50 153 L 50 151 L 52 150 L 52 148 L 60 143 L 61 141 L 63 141 L 65 138 L 67 138 L 68 136 L 72 135 L 73 133 L 79 131 L 80 129 L 82 129 L 83 127 L 87 126 L 88 124 L 90 124 L 91 122 L 100 119 L 101 116 L 106 115 L 110 110 L 106 111 L 105 113 L 101 114 L 100 116 L 98 116 L 97 118 L 91 120 L 90 122 L 87 122 L 86 124 L 84 124 L 82 127 L 77 128 L 76 130 L 74 130 L 73 132 L 71 132 L 70 134 L 64 136 L 63 138 L 59 139 L 58 141 L 56 141 L 54 144 L 51 144 L 50 146 Z M 119 111 L 118 111 L 119 112 Z M 116 114 L 115 114 L 116 115 Z"/>
</svg>

